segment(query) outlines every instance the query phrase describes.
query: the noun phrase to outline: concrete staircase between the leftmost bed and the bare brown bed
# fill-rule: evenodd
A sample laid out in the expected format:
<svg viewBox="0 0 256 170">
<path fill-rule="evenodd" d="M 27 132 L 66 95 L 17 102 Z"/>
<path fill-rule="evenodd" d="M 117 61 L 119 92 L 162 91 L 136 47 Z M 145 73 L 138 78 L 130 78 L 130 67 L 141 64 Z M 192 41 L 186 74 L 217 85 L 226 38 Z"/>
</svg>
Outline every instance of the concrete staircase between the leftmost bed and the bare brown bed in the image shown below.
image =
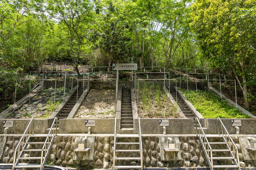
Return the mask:
<svg viewBox="0 0 256 170">
<path fill-rule="evenodd" d="M 64 105 L 64 108 L 61 110 L 61 112 L 57 115 L 58 119 L 66 119 L 69 115 L 70 111 L 73 109 L 75 103 L 80 98 L 80 96 L 83 93 L 83 87 L 80 86 L 78 88 L 78 93 L 75 91 L 69 101 Z"/>
</svg>

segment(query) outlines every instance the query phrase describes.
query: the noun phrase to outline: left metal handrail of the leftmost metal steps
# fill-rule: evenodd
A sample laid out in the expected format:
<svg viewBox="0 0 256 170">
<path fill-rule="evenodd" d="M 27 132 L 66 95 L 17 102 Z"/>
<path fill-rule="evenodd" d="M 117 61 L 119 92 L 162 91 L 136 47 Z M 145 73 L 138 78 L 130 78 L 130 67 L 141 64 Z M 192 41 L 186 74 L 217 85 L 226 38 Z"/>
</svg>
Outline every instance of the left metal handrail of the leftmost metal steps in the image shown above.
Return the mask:
<svg viewBox="0 0 256 170">
<path fill-rule="evenodd" d="M 20 140 L 18 141 L 18 144 L 17 144 L 17 146 L 16 146 L 16 148 L 15 148 L 15 150 L 14 150 L 14 157 L 13 157 L 13 165 L 12 165 L 12 169 L 14 170 L 14 167 L 15 167 L 15 164 L 16 164 L 16 157 L 17 157 L 17 155 L 18 155 L 18 157 L 19 157 L 19 150 L 20 150 L 20 144 L 21 144 L 21 141 L 22 141 L 22 149 L 24 148 L 24 137 L 26 136 L 26 143 L 27 143 L 27 140 L 28 140 L 28 134 L 27 134 L 27 132 L 28 132 L 28 128 L 29 128 L 29 134 L 31 134 L 31 124 L 32 124 L 32 122 L 33 122 L 33 120 L 34 120 L 34 117 L 33 118 L 31 118 L 30 119 L 30 121 L 29 121 L 29 123 L 28 123 L 28 125 L 27 125 L 27 127 L 26 127 L 26 129 L 25 129 L 25 131 L 24 131 L 24 133 L 23 133 L 23 135 L 21 136 L 21 138 L 20 138 Z M 32 128 L 32 133 L 34 134 L 34 128 Z M 18 152 L 18 153 L 17 153 Z"/>
</svg>

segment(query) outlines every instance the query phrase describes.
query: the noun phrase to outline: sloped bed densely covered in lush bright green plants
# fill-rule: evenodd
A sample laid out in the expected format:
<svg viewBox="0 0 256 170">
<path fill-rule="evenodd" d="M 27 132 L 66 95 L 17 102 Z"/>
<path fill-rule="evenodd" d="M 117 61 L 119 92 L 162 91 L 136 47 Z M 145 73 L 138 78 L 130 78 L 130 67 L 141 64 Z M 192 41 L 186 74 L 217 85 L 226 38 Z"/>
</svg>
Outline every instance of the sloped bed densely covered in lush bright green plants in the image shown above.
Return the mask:
<svg viewBox="0 0 256 170">
<path fill-rule="evenodd" d="M 197 90 L 180 89 L 185 97 L 193 104 L 204 118 L 227 118 L 227 119 L 241 119 L 250 118 L 240 110 L 229 106 L 225 100 L 213 93 Z"/>
</svg>

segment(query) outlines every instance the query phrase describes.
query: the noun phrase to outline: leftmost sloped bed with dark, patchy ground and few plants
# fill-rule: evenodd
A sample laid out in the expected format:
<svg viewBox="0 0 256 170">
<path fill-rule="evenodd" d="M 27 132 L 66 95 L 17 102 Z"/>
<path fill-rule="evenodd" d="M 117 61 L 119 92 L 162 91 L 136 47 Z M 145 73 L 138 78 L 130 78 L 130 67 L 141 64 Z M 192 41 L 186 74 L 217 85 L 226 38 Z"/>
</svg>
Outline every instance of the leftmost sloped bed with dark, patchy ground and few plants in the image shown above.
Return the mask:
<svg viewBox="0 0 256 170">
<path fill-rule="evenodd" d="M 65 96 L 71 92 L 71 89 L 65 89 Z M 55 96 L 55 103 L 54 103 Z M 64 99 L 64 87 L 55 88 L 50 87 L 42 89 L 36 96 L 30 99 L 30 102 L 24 104 L 14 113 L 10 114 L 8 118 L 11 119 L 29 119 L 32 117 L 45 119 L 48 118 L 54 110 L 58 108 Z"/>
</svg>

